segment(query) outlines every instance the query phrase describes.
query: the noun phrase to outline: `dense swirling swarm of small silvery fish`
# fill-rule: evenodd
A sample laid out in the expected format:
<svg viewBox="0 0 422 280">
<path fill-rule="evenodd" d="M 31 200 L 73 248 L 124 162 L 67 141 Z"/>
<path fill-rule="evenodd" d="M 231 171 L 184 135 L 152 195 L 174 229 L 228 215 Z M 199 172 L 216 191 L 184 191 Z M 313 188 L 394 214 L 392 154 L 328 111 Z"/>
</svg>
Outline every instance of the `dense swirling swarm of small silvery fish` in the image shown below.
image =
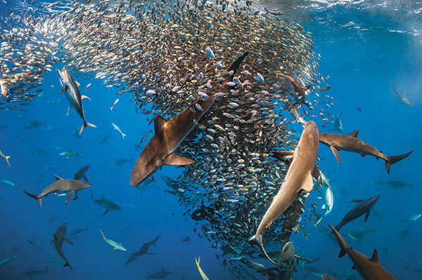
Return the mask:
<svg viewBox="0 0 422 280">
<path fill-rule="evenodd" d="M 278 13 L 252 8 L 250 1 L 93 2 L 58 1 L 6 18 L 0 73 L 8 92 L 1 109 L 13 109 L 11 102 L 27 105 L 37 96 L 30 90 L 56 62 L 75 75 L 102 79 L 119 94 L 132 93 L 136 110 L 150 119 L 158 113 L 170 119 L 212 93 L 217 101 L 176 151 L 197 161 L 179 179 L 179 201 L 225 258 L 244 255 L 286 173 L 269 155 L 297 142 L 286 105 L 297 96 L 284 76 L 312 85 L 307 111 L 334 105 L 319 94 L 326 80 L 311 36 Z M 233 81 L 221 86 L 246 51 Z M 13 80 L 16 73 L 28 74 Z M 307 116 L 333 118 L 324 109 Z M 267 246 L 279 244 L 279 233 L 266 234 Z M 232 272 L 243 273 L 232 265 Z"/>
</svg>

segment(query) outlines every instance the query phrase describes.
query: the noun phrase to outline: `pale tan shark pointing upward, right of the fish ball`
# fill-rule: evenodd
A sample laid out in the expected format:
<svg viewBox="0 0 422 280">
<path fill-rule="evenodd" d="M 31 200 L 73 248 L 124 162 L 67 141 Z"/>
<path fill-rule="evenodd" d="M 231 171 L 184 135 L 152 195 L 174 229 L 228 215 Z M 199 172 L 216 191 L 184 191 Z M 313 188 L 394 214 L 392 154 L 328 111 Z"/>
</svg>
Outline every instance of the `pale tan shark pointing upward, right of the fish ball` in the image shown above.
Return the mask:
<svg viewBox="0 0 422 280">
<path fill-rule="evenodd" d="M 312 172 L 314 171 L 316 156 L 318 155 L 319 137 L 318 128 L 314 121 L 308 121 L 303 129 L 302 135 L 292 157 L 286 178 L 281 185 L 279 192 L 271 201 L 267 212 L 262 218 L 257 232 L 249 240 L 249 244 L 260 247 L 262 253 L 271 260 L 264 250 L 262 236 L 269 229 L 272 223 L 277 220 L 290 204 L 298 198 L 300 192 L 305 190 L 311 192 L 314 186 Z"/>
</svg>

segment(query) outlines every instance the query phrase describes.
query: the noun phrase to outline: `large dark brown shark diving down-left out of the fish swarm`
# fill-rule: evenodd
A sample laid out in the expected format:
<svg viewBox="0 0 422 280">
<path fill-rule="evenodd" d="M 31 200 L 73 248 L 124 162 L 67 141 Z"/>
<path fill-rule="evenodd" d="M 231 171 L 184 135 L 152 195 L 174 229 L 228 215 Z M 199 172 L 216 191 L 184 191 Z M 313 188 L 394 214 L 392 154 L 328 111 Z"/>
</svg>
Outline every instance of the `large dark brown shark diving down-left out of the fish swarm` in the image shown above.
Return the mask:
<svg viewBox="0 0 422 280">
<path fill-rule="evenodd" d="M 246 51 L 231 65 L 229 72 L 233 74 L 222 81 L 221 86 L 225 86 L 228 81 L 233 79 L 236 70 L 248 53 Z M 141 184 L 163 165 L 186 166 L 196 162 L 194 159 L 176 154 L 174 149 L 179 146 L 181 141 L 198 124 L 200 118 L 210 109 L 215 101 L 214 94 L 210 94 L 209 98 L 203 100 L 195 100 L 191 105 L 173 116 L 170 121 L 166 121 L 160 115 L 157 116 L 154 121 L 154 135 L 136 161 L 130 175 L 130 185 L 136 187 Z"/>
</svg>

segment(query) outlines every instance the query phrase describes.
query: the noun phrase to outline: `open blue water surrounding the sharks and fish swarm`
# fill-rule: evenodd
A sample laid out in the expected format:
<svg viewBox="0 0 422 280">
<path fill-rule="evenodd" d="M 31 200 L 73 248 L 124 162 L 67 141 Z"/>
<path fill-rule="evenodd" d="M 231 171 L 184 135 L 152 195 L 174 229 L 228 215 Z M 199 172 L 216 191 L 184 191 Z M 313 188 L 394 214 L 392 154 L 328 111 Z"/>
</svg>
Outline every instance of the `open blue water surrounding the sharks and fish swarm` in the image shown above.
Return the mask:
<svg viewBox="0 0 422 280">
<path fill-rule="evenodd" d="M 323 76 L 330 76 L 328 84 L 331 89 L 327 93 L 334 102 L 338 101 L 331 113 L 340 114 L 345 108 L 342 119 L 345 133 L 359 129 L 359 139 L 388 156 L 404 154 L 412 149 L 414 152 L 409 158 L 393 164 L 388 174 L 382 160 L 376 161 L 371 156 L 362 158 L 349 152 L 340 152 L 343 161 L 343 166 L 340 166 L 331 149 L 321 145 L 319 166 L 331 182 L 335 201 L 333 210 L 320 225 L 326 226 L 326 222 L 337 225 L 354 206 L 349 201 L 380 194 L 381 198 L 373 209 L 382 218 L 371 213 L 365 223 L 363 217 L 358 218 L 345 225 L 341 233 L 351 246 L 369 257 L 377 248 L 381 265 L 397 279 L 422 279 L 422 273 L 415 272 L 415 269 L 422 269 L 418 263 L 422 261 L 421 220 L 399 225 L 397 219 L 422 214 L 422 166 L 418 160 L 422 156 L 421 149 L 418 149 L 422 138 L 420 7 L 396 2 L 333 3 L 307 1 L 302 3 L 308 6 L 302 8 L 302 12 L 293 11 L 293 8 L 290 11 L 292 18 L 312 32 L 314 52 L 321 55 L 320 72 Z M 13 9 L 13 3 L 2 1 L 0 14 L 4 15 L 9 7 Z M 280 8 L 287 11 L 288 5 Z M 63 66 L 55 65 L 55 69 Z M 4 194 L 0 201 L 0 260 L 14 255 L 18 255 L 19 260 L 0 266 L 0 276 L 4 279 L 27 279 L 27 276 L 21 276 L 23 272 L 31 268 L 44 270 L 49 265 L 48 274 L 34 276 L 35 279 L 140 279 L 143 275 L 159 272 L 161 267 L 172 272 L 165 278 L 168 280 L 200 279 L 194 260 L 200 255 L 201 267 L 210 279 L 236 279 L 215 257 L 216 254 L 222 255 L 222 251 L 210 248 L 212 244 L 209 241 L 193 232 L 193 227 L 200 228 L 200 224 L 196 225 L 188 215 L 183 215 L 186 210 L 184 206 L 179 206 L 177 196 L 164 192 L 167 185 L 160 175 L 177 178 L 183 168 L 164 166 L 155 173 L 156 182 L 140 194 L 129 185 L 134 164 L 129 161 L 116 166 L 115 161 L 122 156 L 127 159 L 133 156 L 135 162 L 140 152 L 134 149 L 134 144 L 153 129 L 153 125 L 148 126 L 146 116 L 136 114 L 135 104 L 130 102 L 132 96 L 117 96 L 113 88 L 101 86 L 98 80 L 86 80 L 81 76 L 75 76 L 75 79 L 84 94 L 84 88 L 91 83 L 86 91 L 91 101 L 84 99 L 83 105 L 87 121 L 97 126 L 85 128 L 80 139 L 72 135 L 72 131 L 79 131 L 77 127 L 82 125 L 82 120 L 73 109 L 66 116 L 68 101 L 63 94 L 58 94 L 61 86 L 56 71 L 44 75 L 41 88 L 44 88 L 44 93 L 53 93 L 46 100 L 58 99 L 63 102 L 62 105 L 47 105 L 44 98 L 35 98 L 34 105 L 24 108 L 28 112 L 19 109 L 0 111 L 0 126 L 8 126 L 0 131 L 0 150 L 11 156 L 11 167 L 0 158 L 0 180 L 14 183 L 0 186 L 0 196 Z M 406 92 L 411 107 L 400 103 L 392 95 L 393 81 L 398 91 Z M 119 102 L 111 111 L 116 98 Z M 25 115 L 22 119 L 13 116 L 21 113 Z M 46 120 L 46 126 L 33 130 L 25 128 L 35 119 L 40 122 Z M 120 132 L 113 129 L 108 143 L 98 145 L 113 128 L 112 122 L 127 136 L 123 139 Z M 317 124 L 320 127 L 322 123 L 317 121 Z M 58 128 L 46 130 L 57 125 Z M 141 145 L 146 145 L 147 141 Z M 32 155 L 38 149 L 47 148 L 48 154 Z M 82 159 L 59 155 L 68 149 L 83 154 Z M 87 178 L 92 186 L 79 192 L 80 201 L 70 201 L 65 206 L 65 196 L 49 194 L 43 197 L 42 207 L 39 207 L 37 201 L 22 191 L 24 188 L 27 192 L 39 194 L 55 180 L 54 175 L 72 179 L 74 173 L 87 164 L 91 164 Z M 47 166 L 53 166 L 54 170 L 47 170 Z M 108 172 L 108 168 L 113 173 Z M 371 182 L 379 180 L 403 180 L 408 184 L 414 183 L 414 189 L 371 185 Z M 347 194 L 338 194 L 340 189 L 347 189 Z M 104 209 L 94 205 L 90 191 L 94 199 L 101 199 L 103 195 L 120 206 L 131 204 L 134 208 L 122 206 L 121 211 L 110 211 L 98 217 Z M 317 196 L 319 194 L 314 192 L 307 201 L 319 201 L 321 205 L 322 201 Z M 77 227 L 87 227 L 87 231 L 77 235 L 79 239 L 72 239 L 74 246 L 63 243 L 63 252 L 74 270 L 46 260 L 60 259 L 49 241 L 63 222 L 68 223 L 68 232 Z M 132 227 L 125 229 L 128 225 Z M 307 224 L 308 239 L 301 233 L 292 235 L 297 253 L 305 252 L 310 259 L 320 258 L 307 267 L 335 273 L 338 279 L 344 279 L 342 277 L 350 272 L 352 262 L 347 257 L 338 258 L 338 245 L 310 225 Z M 361 227 L 369 229 L 372 225 L 375 230 L 373 234 L 365 234 L 361 241 L 363 248 L 346 236 L 347 232 L 359 231 Z M 99 229 L 108 239 L 121 243 L 127 251 L 113 250 L 103 240 Z M 410 235 L 399 241 L 399 234 L 405 229 L 409 229 Z M 148 251 L 153 255 L 142 255 L 124 266 L 130 253 L 138 251 L 144 241 L 152 241 L 158 235 L 157 246 L 151 246 Z M 181 243 L 185 236 L 191 237 L 189 244 Z M 31 246 L 27 240 L 34 241 L 42 250 Z M 16 252 L 12 251 L 14 246 L 18 247 Z M 381 248 L 388 248 L 389 253 Z M 266 260 L 255 261 L 269 265 Z M 257 279 L 264 279 L 260 274 L 251 273 Z M 357 272 L 354 275 L 355 279 L 360 279 Z M 295 272 L 293 278 L 318 279 L 307 269 Z"/>
</svg>

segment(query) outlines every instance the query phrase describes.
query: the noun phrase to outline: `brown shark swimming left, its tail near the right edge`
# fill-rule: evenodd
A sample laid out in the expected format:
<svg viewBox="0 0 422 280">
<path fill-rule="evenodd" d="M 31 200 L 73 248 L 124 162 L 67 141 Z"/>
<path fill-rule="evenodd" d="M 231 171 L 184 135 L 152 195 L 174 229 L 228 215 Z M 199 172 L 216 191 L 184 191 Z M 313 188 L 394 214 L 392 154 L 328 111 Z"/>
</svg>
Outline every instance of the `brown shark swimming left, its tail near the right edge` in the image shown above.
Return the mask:
<svg viewBox="0 0 422 280">
<path fill-rule="evenodd" d="M 407 156 L 414 151 L 411 150 L 407 154 L 401 154 L 399 156 L 385 156 L 385 154 L 383 154 L 383 152 L 379 149 L 376 149 L 376 147 L 373 147 L 357 138 L 358 133 L 359 130 L 353 131 L 349 135 L 319 132 L 319 142 L 331 148 L 335 159 L 337 159 L 341 165 L 343 164 L 338 151 L 355 152 L 361 154 L 362 157 L 369 155 L 375 156 L 376 159 L 383 159 L 385 161 L 385 169 L 387 170 L 387 173 L 390 173 L 392 164 L 395 164 L 397 161 L 401 161 L 402 159 L 406 159 Z"/>
</svg>

